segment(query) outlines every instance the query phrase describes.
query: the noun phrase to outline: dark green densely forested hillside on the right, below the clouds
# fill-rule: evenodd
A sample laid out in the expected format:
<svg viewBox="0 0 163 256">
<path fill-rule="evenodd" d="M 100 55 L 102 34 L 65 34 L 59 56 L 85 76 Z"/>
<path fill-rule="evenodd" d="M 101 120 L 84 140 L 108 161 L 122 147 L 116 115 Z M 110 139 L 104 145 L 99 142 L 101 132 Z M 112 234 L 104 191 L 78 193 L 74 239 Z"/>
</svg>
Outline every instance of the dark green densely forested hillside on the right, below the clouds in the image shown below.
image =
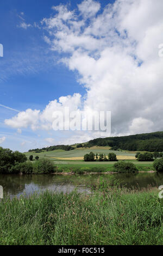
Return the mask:
<svg viewBox="0 0 163 256">
<path fill-rule="evenodd" d="M 87 146 L 110 146 L 112 149 L 124 149 L 132 151 L 163 151 L 163 132 L 142 133 L 122 137 L 108 137 L 92 139 Z"/>
</svg>

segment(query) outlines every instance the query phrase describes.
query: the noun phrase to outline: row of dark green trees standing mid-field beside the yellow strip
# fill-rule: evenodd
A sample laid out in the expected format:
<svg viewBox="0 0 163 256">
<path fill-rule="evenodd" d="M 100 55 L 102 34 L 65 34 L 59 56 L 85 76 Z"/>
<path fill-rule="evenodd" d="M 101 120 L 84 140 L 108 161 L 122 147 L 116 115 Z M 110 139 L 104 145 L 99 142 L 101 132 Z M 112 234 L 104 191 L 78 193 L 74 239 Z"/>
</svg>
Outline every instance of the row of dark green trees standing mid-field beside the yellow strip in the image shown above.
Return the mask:
<svg viewBox="0 0 163 256">
<path fill-rule="evenodd" d="M 117 161 L 117 157 L 116 154 L 114 153 L 109 153 L 108 154 L 108 158 L 106 157 L 105 154 L 96 154 L 96 158 L 95 158 L 95 154 L 93 152 L 90 152 L 90 154 L 85 154 L 84 155 L 84 161 L 85 162 L 93 162 L 93 161 Z"/>
</svg>

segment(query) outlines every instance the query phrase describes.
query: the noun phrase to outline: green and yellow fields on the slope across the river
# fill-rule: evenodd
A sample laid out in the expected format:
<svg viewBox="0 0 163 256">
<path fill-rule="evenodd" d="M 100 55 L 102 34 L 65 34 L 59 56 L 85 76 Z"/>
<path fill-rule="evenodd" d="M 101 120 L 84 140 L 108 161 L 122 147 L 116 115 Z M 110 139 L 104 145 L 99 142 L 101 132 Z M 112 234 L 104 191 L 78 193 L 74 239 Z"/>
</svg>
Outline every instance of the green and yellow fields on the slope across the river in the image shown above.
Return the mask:
<svg viewBox="0 0 163 256">
<path fill-rule="evenodd" d="M 115 162 L 84 162 L 84 155 L 90 152 L 96 154 L 106 154 L 115 153 L 118 160 L 131 161 L 136 164 L 139 171 L 150 171 L 153 170 L 152 162 L 137 162 L 135 159 L 135 151 L 115 151 L 110 150 L 110 147 L 98 147 L 94 146 L 91 148 L 75 148 L 74 150 L 53 150 L 45 151 L 42 153 L 26 153 L 29 159 L 30 155 L 39 156 L 39 158 L 46 158 L 53 162 L 57 167 L 57 172 L 112 172 L 112 167 Z"/>
</svg>

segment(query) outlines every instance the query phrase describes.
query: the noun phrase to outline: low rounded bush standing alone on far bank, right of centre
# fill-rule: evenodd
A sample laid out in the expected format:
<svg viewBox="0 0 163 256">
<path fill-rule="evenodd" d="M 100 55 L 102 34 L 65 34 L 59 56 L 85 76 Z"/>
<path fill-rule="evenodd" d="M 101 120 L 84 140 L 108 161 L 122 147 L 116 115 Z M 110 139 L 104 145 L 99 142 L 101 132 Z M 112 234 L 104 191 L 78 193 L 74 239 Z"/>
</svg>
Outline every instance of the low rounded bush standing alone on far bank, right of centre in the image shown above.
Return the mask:
<svg viewBox="0 0 163 256">
<path fill-rule="evenodd" d="M 114 164 L 114 170 L 118 173 L 135 173 L 138 172 L 134 163 L 120 161 Z"/>
</svg>

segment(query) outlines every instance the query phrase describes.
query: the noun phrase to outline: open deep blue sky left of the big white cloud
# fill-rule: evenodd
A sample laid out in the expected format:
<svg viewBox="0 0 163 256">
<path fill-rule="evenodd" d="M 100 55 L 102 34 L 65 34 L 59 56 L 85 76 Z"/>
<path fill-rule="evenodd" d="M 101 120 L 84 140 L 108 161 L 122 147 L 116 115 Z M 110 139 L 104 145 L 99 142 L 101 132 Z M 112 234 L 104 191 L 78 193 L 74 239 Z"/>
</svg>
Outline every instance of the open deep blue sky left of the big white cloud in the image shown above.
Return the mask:
<svg viewBox="0 0 163 256">
<path fill-rule="evenodd" d="M 53 5 L 68 4 L 70 9 L 77 8 L 81 1 L 45 1 L 45 0 L 7 0 L 1 2 L 0 43 L 4 47 L 4 56 L 0 58 L 0 95 L 1 105 L 24 111 L 27 108 L 44 109 L 51 100 L 60 96 L 85 94 L 85 88 L 77 82 L 77 72 L 70 71 L 58 64 L 58 53 L 51 53 L 43 40 L 45 32 L 34 27 L 40 26 L 44 17 L 53 15 Z M 112 2 L 112 1 L 110 1 Z M 102 5 L 108 1 L 102 1 Z M 28 29 L 20 27 L 22 22 L 32 24 Z M 3 147 L 26 150 L 33 146 L 43 147 L 39 140 L 47 137 L 45 133 L 37 137 L 36 132 L 24 129 L 21 134 L 4 125 L 4 119 L 16 113 L 0 106 L 0 137 L 5 136 Z M 64 136 L 63 136 L 64 137 Z M 20 145 L 28 144 L 27 148 Z M 36 143 L 37 142 L 37 143 Z M 37 145 L 38 144 L 38 145 Z M 34 147 L 34 146 L 33 146 Z"/>
</svg>

